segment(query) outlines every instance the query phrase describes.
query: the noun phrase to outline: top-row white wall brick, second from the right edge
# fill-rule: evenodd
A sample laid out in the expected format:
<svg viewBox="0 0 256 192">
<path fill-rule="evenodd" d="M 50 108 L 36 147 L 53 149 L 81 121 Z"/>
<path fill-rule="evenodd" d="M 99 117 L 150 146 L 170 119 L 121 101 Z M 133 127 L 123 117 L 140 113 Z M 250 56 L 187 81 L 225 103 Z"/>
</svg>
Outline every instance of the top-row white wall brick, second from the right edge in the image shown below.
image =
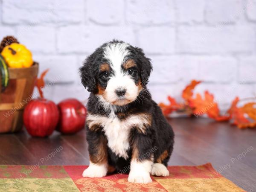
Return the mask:
<svg viewBox="0 0 256 192">
<path fill-rule="evenodd" d="M 205 17 L 208 23 L 234 23 L 242 15 L 242 0 L 206 1 Z"/>
</svg>

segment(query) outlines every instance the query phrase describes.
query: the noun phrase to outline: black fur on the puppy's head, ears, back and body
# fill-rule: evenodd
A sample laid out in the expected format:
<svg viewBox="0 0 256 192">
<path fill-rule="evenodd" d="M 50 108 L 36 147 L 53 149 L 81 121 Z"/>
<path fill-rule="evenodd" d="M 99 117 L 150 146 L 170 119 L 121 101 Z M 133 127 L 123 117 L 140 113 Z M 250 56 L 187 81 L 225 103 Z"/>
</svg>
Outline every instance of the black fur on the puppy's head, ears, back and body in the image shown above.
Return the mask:
<svg viewBox="0 0 256 192">
<path fill-rule="evenodd" d="M 112 41 L 111 43 L 116 43 L 120 41 Z M 87 110 L 91 114 L 97 114 L 100 116 L 108 117 L 111 111 L 106 111 L 102 105 L 99 105 L 98 97 L 95 93 L 97 92 L 96 84 L 100 80 L 99 74 L 99 64 L 104 61 L 103 58 L 103 47 L 106 44 L 103 44 L 101 47 L 95 50 L 95 52 L 90 55 L 84 62 L 84 66 L 80 68 L 81 82 L 84 87 L 87 88 L 90 93 L 90 97 L 87 103 Z M 120 120 L 127 118 L 129 115 L 134 113 L 149 113 L 152 117 L 151 126 L 148 126 L 145 130 L 145 133 L 139 132 L 136 128 L 132 128 L 129 138 L 130 146 L 136 145 L 139 151 L 139 160 L 149 160 L 151 159 L 151 154 L 154 154 L 154 163 L 156 163 L 158 157 L 163 154 L 164 151 L 168 152 L 168 156 L 163 159 L 162 163 L 167 166 L 170 155 L 172 154 L 173 145 L 174 145 L 174 133 L 171 126 L 166 121 L 163 116 L 162 111 L 160 110 L 157 103 L 151 99 L 151 94 L 148 92 L 145 85 L 148 83 L 148 78 L 150 76 L 152 66 L 150 60 L 145 57 L 143 50 L 137 47 L 128 47 L 131 55 L 129 58 L 133 59 L 138 67 L 138 77 L 134 79 L 141 79 L 143 83 L 144 90 L 140 92 L 138 99 L 134 102 L 129 103 L 124 106 L 116 106 L 115 114 L 119 117 Z M 119 114 L 122 115 L 119 115 Z M 96 131 L 87 130 L 87 141 L 89 143 L 89 153 L 96 153 L 94 148 L 95 142 L 98 141 L 99 136 L 103 136 L 104 132 L 102 128 L 97 129 Z M 125 160 L 122 157 L 117 157 L 111 149 L 108 147 L 108 164 L 114 166 L 119 172 L 128 172 L 130 167 L 132 147 L 128 151 L 129 158 Z"/>
</svg>

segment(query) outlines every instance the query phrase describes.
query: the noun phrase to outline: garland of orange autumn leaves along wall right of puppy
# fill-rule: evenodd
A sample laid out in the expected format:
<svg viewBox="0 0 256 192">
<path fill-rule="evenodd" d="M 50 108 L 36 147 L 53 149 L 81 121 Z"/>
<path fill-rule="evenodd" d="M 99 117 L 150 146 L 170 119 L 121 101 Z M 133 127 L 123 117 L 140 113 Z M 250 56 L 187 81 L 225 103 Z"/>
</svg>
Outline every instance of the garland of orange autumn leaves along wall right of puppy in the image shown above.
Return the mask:
<svg viewBox="0 0 256 192">
<path fill-rule="evenodd" d="M 173 111 L 181 110 L 186 111 L 188 114 L 194 114 L 195 116 L 207 114 L 209 118 L 215 119 L 216 121 L 228 121 L 233 119 L 233 124 L 239 128 L 256 127 L 256 102 L 250 102 L 238 108 L 239 97 L 236 97 L 226 115 L 221 115 L 218 104 L 214 100 L 214 96 L 208 91 L 204 92 L 204 97 L 197 93 L 193 98 L 193 90 L 199 83 L 201 83 L 201 81 L 193 80 L 185 87 L 182 92 L 182 97 L 185 101 L 183 103 L 177 103 L 173 97 L 168 96 L 169 105 L 165 105 L 164 103 L 159 104 L 163 114 L 167 116 Z M 247 119 L 247 116 L 251 120 Z"/>
</svg>

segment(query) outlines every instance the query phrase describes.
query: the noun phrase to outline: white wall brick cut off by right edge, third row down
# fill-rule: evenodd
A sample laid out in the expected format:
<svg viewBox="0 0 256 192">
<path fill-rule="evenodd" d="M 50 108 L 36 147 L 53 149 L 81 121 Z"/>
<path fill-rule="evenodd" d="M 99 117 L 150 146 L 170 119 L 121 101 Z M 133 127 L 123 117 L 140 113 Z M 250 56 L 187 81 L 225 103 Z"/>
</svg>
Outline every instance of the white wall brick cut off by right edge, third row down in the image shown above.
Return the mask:
<svg viewBox="0 0 256 192">
<path fill-rule="evenodd" d="M 256 56 L 244 57 L 239 63 L 239 81 L 256 82 Z"/>
</svg>

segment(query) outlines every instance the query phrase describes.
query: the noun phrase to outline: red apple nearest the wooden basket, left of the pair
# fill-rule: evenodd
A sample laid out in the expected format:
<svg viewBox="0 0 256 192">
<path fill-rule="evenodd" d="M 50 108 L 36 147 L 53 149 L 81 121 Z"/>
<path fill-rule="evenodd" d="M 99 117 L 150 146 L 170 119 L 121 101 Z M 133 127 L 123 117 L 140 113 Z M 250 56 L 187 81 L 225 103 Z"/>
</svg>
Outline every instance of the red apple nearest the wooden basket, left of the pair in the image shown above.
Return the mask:
<svg viewBox="0 0 256 192">
<path fill-rule="evenodd" d="M 24 110 L 23 121 L 30 135 L 46 137 L 52 134 L 59 118 L 58 108 L 47 99 L 34 99 Z"/>
</svg>

